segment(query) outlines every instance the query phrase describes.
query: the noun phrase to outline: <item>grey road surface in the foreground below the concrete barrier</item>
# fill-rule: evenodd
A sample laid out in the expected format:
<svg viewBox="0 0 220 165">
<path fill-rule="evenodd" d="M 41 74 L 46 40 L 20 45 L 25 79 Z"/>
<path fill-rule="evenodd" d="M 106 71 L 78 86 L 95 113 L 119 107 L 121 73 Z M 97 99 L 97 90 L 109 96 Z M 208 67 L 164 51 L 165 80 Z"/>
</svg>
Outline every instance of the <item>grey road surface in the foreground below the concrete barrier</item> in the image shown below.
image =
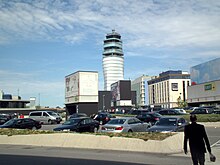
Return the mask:
<svg viewBox="0 0 220 165">
<path fill-rule="evenodd" d="M 143 152 L 0 145 L 1 165 L 188 165 L 189 157 Z"/>
</svg>

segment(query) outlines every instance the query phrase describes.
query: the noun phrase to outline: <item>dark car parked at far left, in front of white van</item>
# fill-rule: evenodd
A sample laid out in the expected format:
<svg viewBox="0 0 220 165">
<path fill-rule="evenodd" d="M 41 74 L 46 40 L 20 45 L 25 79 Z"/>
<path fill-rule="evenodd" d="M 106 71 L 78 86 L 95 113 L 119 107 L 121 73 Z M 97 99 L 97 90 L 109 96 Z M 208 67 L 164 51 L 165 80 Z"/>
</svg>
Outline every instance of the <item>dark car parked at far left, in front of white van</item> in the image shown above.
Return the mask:
<svg viewBox="0 0 220 165">
<path fill-rule="evenodd" d="M 40 129 L 41 123 L 31 118 L 11 119 L 0 126 L 0 128 L 16 128 L 16 129 Z"/>
</svg>

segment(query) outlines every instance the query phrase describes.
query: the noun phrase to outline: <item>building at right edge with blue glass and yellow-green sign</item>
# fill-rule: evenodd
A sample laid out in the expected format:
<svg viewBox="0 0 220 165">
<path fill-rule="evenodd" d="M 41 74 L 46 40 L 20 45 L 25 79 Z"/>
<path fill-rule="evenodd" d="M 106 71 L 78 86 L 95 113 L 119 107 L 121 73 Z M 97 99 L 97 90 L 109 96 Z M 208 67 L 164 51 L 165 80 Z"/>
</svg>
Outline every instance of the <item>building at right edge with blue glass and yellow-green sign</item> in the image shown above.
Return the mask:
<svg viewBox="0 0 220 165">
<path fill-rule="evenodd" d="M 220 58 L 191 67 L 192 86 L 188 87 L 189 106 L 220 107 Z"/>
</svg>

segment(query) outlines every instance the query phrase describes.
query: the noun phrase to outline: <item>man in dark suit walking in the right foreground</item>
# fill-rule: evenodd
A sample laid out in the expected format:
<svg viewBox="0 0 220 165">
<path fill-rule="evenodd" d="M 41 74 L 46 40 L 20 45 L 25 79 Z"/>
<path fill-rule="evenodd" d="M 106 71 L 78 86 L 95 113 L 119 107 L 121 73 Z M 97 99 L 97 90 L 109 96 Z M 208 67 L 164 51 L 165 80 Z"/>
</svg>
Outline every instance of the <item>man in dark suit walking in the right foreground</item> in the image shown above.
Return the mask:
<svg viewBox="0 0 220 165">
<path fill-rule="evenodd" d="M 184 152 L 187 154 L 187 141 L 189 139 L 189 148 L 192 156 L 193 165 L 205 164 L 206 147 L 211 154 L 211 147 L 207 137 L 205 127 L 197 124 L 196 115 L 190 116 L 191 124 L 185 126 L 184 130 Z M 206 147 L 205 147 L 206 144 Z"/>
</svg>

